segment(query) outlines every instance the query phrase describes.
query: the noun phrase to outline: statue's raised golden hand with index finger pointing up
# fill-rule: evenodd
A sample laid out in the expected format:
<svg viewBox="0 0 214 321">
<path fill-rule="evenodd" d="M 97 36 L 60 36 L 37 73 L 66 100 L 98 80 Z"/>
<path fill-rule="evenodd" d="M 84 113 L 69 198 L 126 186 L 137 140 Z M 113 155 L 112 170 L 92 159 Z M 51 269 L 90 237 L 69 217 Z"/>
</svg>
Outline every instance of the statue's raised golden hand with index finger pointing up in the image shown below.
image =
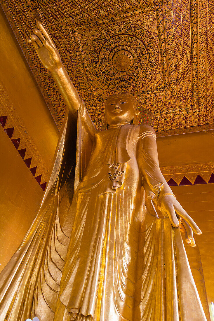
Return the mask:
<svg viewBox="0 0 214 321">
<path fill-rule="evenodd" d="M 40 21 L 37 21 L 39 29 L 33 29 L 34 34 L 27 39 L 33 45 L 42 65 L 49 71 L 54 71 L 62 66 L 61 57 L 48 32 Z"/>
</svg>

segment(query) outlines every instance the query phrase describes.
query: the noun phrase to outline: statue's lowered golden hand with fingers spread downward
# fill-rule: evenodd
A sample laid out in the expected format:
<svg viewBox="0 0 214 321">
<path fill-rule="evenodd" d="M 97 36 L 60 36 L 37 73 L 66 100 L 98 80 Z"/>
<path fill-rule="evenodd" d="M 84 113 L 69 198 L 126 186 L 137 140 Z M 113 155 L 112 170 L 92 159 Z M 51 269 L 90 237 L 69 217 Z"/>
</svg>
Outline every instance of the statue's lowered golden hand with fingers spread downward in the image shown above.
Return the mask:
<svg viewBox="0 0 214 321">
<path fill-rule="evenodd" d="M 173 195 L 165 195 L 162 197 L 160 210 L 165 217 L 169 217 L 174 227 L 180 226 L 181 231 L 184 233 L 185 241 L 190 244 L 190 246 L 195 247 L 193 232 L 195 234 L 201 234 L 201 230 Z"/>
</svg>

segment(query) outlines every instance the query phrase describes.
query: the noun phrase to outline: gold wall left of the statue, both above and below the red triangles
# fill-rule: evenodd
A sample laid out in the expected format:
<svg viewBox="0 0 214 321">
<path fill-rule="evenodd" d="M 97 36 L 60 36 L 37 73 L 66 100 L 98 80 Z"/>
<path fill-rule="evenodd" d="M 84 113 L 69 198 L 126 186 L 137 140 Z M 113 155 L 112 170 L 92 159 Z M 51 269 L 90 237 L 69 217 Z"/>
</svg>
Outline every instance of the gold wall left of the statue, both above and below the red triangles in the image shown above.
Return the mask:
<svg viewBox="0 0 214 321">
<path fill-rule="evenodd" d="M 0 7 L 0 117 L 18 150 L 32 158 L 35 177 L 47 180 L 59 131 L 34 80 L 21 48 Z M 9 261 L 39 208 L 43 190 L 0 125 L 0 271 Z"/>
</svg>

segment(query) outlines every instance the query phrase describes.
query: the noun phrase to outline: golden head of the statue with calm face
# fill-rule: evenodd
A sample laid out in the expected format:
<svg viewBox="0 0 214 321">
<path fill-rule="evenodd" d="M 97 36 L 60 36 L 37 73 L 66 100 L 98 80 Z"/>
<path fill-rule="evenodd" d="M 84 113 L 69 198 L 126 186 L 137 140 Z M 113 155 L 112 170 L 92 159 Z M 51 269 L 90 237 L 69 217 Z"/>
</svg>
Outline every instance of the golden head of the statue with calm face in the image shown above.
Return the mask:
<svg viewBox="0 0 214 321">
<path fill-rule="evenodd" d="M 105 120 L 108 125 L 131 123 L 134 118 L 136 118 L 136 110 L 129 97 L 108 100 L 105 106 Z"/>
</svg>

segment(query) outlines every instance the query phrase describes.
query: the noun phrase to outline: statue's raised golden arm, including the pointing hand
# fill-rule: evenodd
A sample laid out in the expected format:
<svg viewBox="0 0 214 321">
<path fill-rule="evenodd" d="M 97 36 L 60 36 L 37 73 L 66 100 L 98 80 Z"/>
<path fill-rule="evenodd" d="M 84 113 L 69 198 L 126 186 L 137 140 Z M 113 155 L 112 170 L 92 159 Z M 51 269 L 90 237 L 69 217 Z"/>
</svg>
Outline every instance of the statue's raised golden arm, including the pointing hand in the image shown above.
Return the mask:
<svg viewBox="0 0 214 321">
<path fill-rule="evenodd" d="M 34 34 L 30 36 L 28 42 L 32 43 L 42 65 L 51 72 L 58 90 L 60 91 L 69 111 L 74 117 L 77 118 L 77 111 L 81 107 L 80 116 L 84 122 L 84 125 L 88 132 L 91 135 L 94 135 L 94 124 L 87 113 L 84 102 L 79 97 L 76 88 L 71 82 L 70 77 L 68 76 L 67 71 L 62 64 L 61 57 L 53 43 L 53 40 L 41 22 L 38 21 L 37 24 L 41 31 L 34 29 Z"/>
</svg>

